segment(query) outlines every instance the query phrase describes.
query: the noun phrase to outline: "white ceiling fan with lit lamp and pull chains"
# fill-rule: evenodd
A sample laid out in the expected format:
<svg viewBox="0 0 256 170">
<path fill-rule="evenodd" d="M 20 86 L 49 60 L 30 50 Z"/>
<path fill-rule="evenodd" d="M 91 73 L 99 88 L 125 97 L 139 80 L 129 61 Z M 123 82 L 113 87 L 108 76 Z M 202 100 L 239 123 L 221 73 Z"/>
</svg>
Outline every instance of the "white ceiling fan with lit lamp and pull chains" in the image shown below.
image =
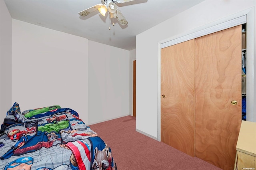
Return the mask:
<svg viewBox="0 0 256 170">
<path fill-rule="evenodd" d="M 80 16 L 87 16 L 88 14 L 98 10 L 100 14 L 105 16 L 106 12 L 110 13 L 110 18 L 117 18 L 118 22 L 125 26 L 128 24 L 127 20 L 124 18 L 123 14 L 117 8 L 117 3 L 130 2 L 133 0 L 101 0 L 102 4 L 96 4 L 86 10 L 79 12 Z M 114 22 L 113 22 L 114 25 Z"/>
</svg>

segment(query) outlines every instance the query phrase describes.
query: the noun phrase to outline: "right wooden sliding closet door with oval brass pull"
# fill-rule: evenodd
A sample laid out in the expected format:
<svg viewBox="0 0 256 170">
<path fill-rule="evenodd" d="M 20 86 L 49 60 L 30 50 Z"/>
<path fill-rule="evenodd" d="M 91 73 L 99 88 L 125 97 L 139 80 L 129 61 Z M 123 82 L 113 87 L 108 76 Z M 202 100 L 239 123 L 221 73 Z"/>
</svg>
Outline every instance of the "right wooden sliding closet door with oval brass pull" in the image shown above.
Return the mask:
<svg viewBox="0 0 256 170">
<path fill-rule="evenodd" d="M 242 119 L 241 30 L 195 39 L 195 156 L 224 170 L 234 168 Z"/>
</svg>

